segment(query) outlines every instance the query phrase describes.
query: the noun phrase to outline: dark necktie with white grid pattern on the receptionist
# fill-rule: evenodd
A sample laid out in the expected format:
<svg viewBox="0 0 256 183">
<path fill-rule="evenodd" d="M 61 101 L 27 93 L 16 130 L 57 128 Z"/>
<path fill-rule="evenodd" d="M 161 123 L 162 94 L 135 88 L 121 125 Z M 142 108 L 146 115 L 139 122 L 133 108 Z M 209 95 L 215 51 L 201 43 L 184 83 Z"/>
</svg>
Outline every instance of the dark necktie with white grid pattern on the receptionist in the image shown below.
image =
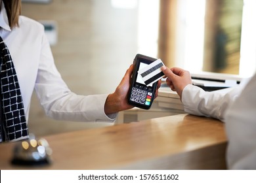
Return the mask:
<svg viewBox="0 0 256 183">
<path fill-rule="evenodd" d="M 28 127 L 18 78 L 9 50 L 0 37 L 0 142 L 28 138 Z"/>
</svg>

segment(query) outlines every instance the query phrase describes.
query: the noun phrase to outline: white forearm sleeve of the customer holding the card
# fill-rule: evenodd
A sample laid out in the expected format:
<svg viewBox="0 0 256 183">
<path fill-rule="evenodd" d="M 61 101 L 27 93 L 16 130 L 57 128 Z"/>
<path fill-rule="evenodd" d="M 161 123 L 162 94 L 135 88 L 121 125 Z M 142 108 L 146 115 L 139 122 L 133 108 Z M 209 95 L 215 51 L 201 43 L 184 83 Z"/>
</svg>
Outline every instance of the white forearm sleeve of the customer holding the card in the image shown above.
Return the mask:
<svg viewBox="0 0 256 183">
<path fill-rule="evenodd" d="M 205 92 L 202 88 L 189 84 L 182 91 L 182 104 L 184 111 L 189 114 L 211 116 L 223 121 L 226 109 L 240 92 L 239 87 Z"/>
</svg>

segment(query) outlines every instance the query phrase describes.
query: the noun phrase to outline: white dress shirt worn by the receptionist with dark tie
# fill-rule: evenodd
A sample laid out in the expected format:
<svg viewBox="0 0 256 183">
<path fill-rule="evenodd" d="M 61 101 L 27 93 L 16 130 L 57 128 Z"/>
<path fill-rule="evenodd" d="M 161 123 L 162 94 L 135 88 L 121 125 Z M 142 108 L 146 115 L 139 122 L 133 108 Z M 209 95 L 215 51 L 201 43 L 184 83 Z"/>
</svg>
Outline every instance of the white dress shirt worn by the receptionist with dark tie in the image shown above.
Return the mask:
<svg viewBox="0 0 256 183">
<path fill-rule="evenodd" d="M 16 69 L 27 121 L 34 89 L 45 114 L 56 120 L 115 120 L 117 114 L 108 117 L 104 113 L 108 95 L 76 95 L 68 89 L 54 65 L 43 25 L 20 16 L 19 27 L 11 30 L 2 4 L 0 27 L 0 35 L 9 48 Z"/>
</svg>

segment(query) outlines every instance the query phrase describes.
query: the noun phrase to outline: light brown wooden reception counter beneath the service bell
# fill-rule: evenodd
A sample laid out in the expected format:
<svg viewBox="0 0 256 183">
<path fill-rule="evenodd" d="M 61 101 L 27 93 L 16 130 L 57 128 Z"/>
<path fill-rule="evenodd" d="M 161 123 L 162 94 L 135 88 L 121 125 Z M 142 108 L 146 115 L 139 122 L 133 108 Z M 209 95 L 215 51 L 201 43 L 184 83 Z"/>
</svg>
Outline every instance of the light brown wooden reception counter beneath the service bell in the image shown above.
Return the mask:
<svg viewBox="0 0 256 183">
<path fill-rule="evenodd" d="M 9 142 L 0 169 L 226 169 L 224 124 L 213 118 L 179 114 L 44 138 L 50 165 L 12 165 Z"/>
</svg>

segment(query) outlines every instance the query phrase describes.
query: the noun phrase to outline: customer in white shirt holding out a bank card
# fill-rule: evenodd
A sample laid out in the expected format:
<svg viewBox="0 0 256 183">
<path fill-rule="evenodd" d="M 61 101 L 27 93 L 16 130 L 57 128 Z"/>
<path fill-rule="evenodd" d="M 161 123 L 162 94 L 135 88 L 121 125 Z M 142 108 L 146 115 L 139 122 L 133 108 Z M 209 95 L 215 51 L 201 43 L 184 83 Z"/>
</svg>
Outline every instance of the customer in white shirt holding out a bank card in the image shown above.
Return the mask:
<svg viewBox="0 0 256 183">
<path fill-rule="evenodd" d="M 185 112 L 225 122 L 228 169 L 256 169 L 256 75 L 226 93 L 205 92 L 192 85 L 190 73 L 162 67 L 167 85 L 178 93 Z"/>
</svg>

